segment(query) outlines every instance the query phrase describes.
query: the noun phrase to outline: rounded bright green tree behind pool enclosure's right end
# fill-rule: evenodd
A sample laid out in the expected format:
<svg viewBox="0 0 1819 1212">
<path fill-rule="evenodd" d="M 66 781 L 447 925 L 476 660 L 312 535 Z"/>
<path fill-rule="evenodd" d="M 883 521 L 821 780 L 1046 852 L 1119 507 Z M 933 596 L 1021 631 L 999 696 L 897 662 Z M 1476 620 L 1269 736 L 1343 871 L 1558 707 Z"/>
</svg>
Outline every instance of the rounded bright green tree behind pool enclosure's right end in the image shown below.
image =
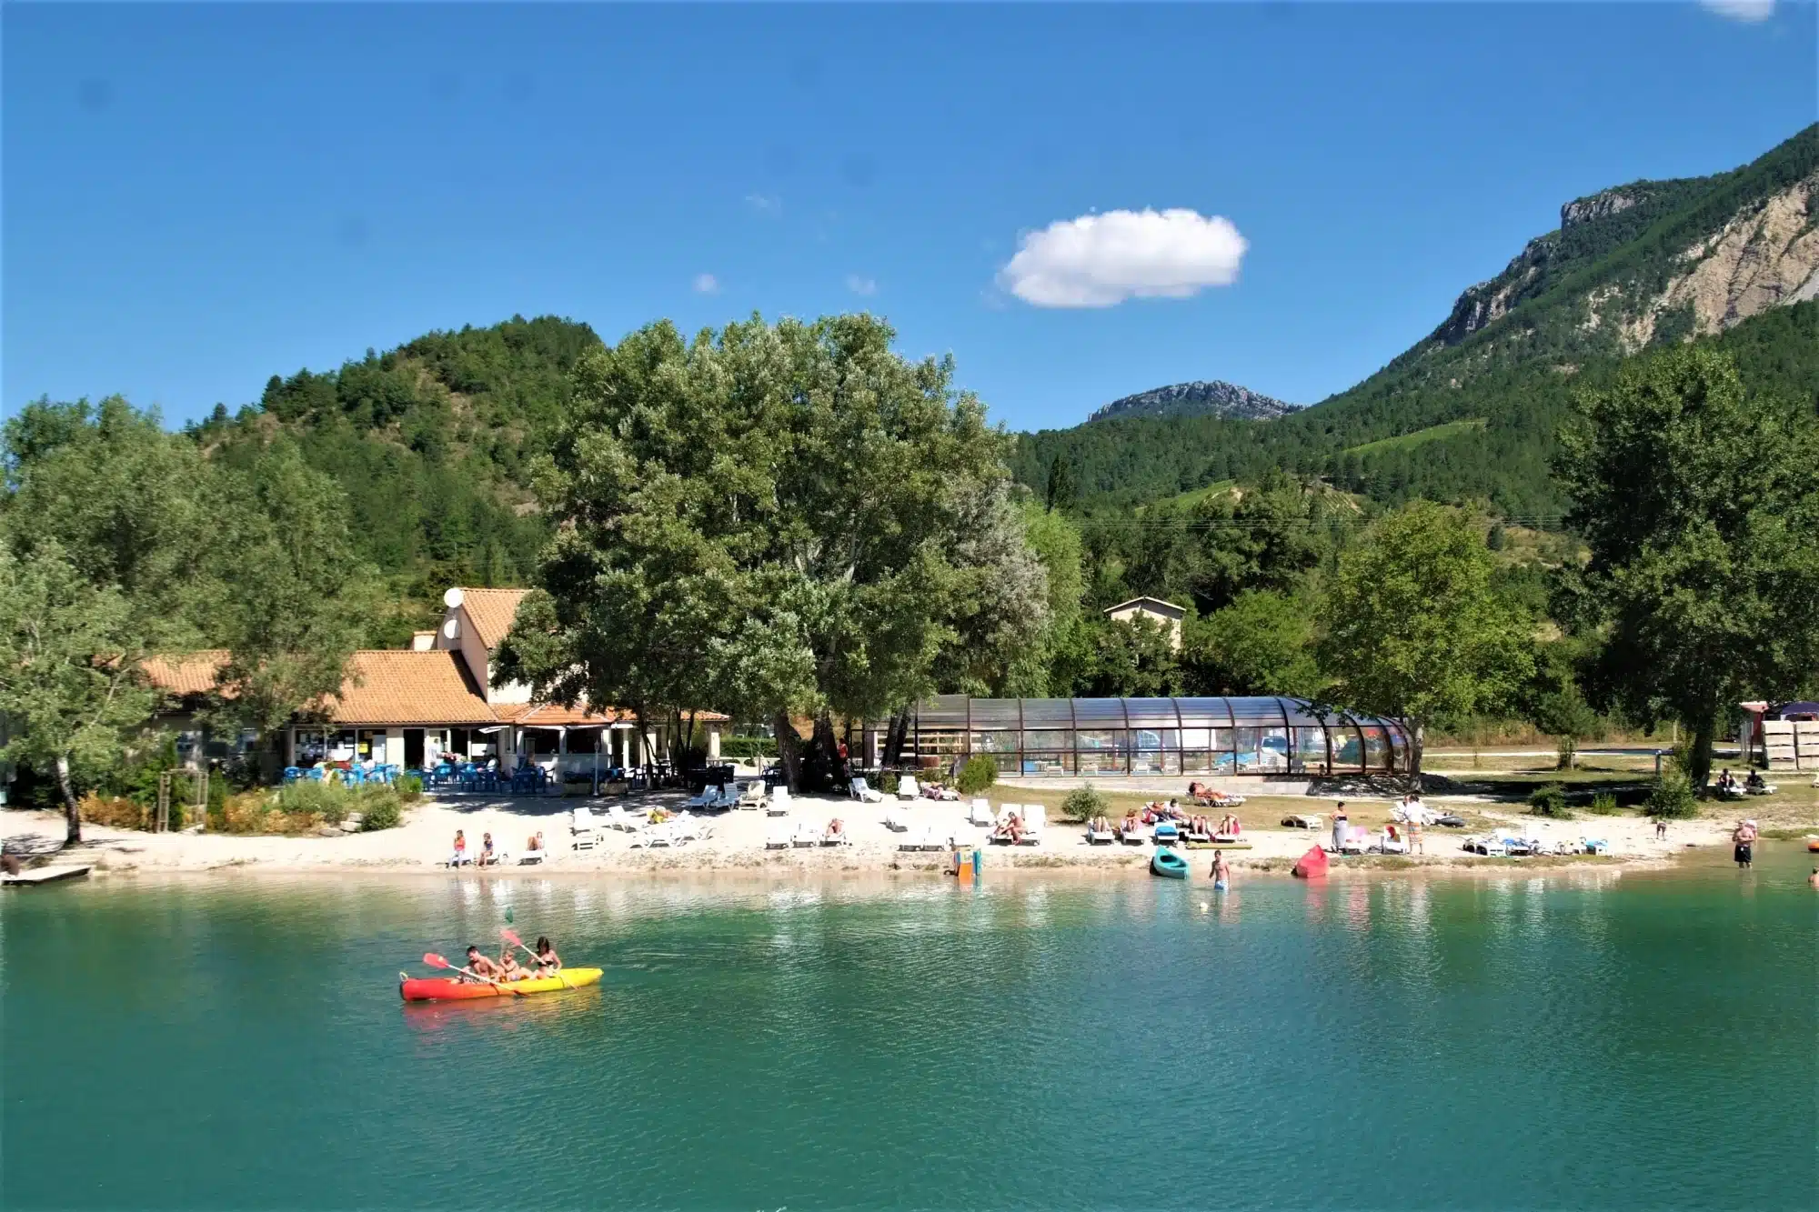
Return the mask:
<svg viewBox="0 0 1819 1212">
<path fill-rule="evenodd" d="M 1533 675 L 1530 622 L 1492 591 L 1492 564 L 1470 519 L 1421 500 L 1373 522 L 1326 591 L 1332 693 L 1408 721 L 1415 779 L 1430 724 L 1497 710 Z"/>
</svg>

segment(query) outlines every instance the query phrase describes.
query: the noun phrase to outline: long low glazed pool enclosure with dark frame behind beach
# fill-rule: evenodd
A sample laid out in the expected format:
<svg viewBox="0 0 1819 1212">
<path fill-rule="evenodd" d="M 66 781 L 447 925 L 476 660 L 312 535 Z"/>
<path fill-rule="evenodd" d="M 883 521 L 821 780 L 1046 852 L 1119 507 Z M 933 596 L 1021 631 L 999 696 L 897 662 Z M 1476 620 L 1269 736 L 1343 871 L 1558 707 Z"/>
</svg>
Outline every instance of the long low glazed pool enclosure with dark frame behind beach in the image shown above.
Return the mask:
<svg viewBox="0 0 1819 1212">
<path fill-rule="evenodd" d="M 1306 699 L 971 699 L 910 712 L 904 764 L 991 753 L 1000 775 L 1408 772 L 1408 726 Z M 1006 761 L 1008 759 L 1008 761 Z"/>
</svg>

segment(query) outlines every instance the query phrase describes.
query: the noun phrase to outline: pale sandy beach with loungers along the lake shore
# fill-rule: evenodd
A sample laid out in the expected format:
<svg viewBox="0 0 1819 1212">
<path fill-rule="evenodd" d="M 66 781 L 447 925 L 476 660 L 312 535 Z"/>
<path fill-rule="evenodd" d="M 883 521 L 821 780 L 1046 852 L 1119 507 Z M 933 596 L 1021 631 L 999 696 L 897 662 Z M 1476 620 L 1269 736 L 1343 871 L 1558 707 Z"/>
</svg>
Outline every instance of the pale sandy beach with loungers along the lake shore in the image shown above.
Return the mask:
<svg viewBox="0 0 1819 1212">
<path fill-rule="evenodd" d="M 1151 848 L 1148 844 L 1088 844 L 1079 824 L 1059 821 L 1059 801 L 1066 795 L 1066 786 L 999 786 L 988 797 L 993 808 L 1004 803 L 1042 803 L 1048 824 L 1039 844 L 1004 846 L 990 844 L 990 830 L 966 823 L 966 806 L 955 803 L 913 801 L 869 803 L 835 797 L 799 797 L 791 804 L 788 817 L 768 817 L 762 810 L 733 810 L 711 813 L 700 819 L 706 835 L 677 846 L 644 846 L 635 832 L 618 828 L 598 830 L 598 843 L 593 848 L 575 848 L 569 832 L 569 810 L 589 803 L 597 815 L 604 817 L 606 804 L 600 801 L 578 799 L 538 799 L 538 797 L 493 797 L 493 795 L 451 795 L 426 797 L 411 806 L 402 826 L 373 833 L 351 835 L 233 835 L 233 833 L 140 833 L 131 830 L 85 824 L 85 844 L 80 852 L 64 852 L 58 861 L 93 863 L 98 874 L 146 872 L 220 872 L 227 868 L 246 872 L 338 872 L 338 870 L 386 870 L 386 872 L 444 872 L 453 837 L 462 830 L 467 837 L 467 853 L 477 853 L 480 839 L 491 833 L 495 844 L 511 855 L 506 866 L 487 868 L 489 874 L 553 874 L 553 872 L 602 872 L 602 874 L 680 874 L 680 872 L 746 872 L 746 874 L 788 874 L 788 872 L 891 872 L 891 870 L 939 870 L 948 864 L 946 850 L 908 850 L 906 843 L 920 837 L 922 826 L 937 826 L 937 833 L 953 833 L 962 844 L 973 844 L 986 852 L 986 870 L 1097 870 L 1142 874 Z M 642 808 L 680 808 L 686 795 L 682 792 L 658 792 L 624 801 L 633 810 Z M 1113 803 L 1122 810 L 1135 801 L 1133 793 L 1117 793 Z M 1046 801 L 1046 803 L 1044 803 Z M 1608 843 L 1608 855 L 1584 859 L 1593 863 L 1666 863 L 1686 853 L 1688 848 L 1728 844 L 1734 812 L 1713 812 L 1713 815 L 1675 821 L 1668 824 L 1666 839 L 1655 839 L 1652 823 L 1633 815 L 1581 817 L 1577 821 L 1544 821 L 1519 812 L 1519 804 L 1484 804 L 1461 797 L 1457 803 L 1448 797 L 1428 797 L 1430 808 L 1459 812 L 1466 815 L 1468 826 L 1462 830 L 1430 828 L 1426 832 L 1424 853 L 1417 855 L 1366 855 L 1333 861 L 1335 872 L 1379 870 L 1384 866 L 1432 866 L 1462 870 L 1495 870 L 1504 866 L 1544 866 L 1577 863 L 1579 859 L 1541 857 L 1541 859 L 1484 859 L 1461 848 L 1464 837 L 1488 832 L 1490 828 L 1513 828 L 1530 837 L 1539 837 L 1552 848 L 1557 841 L 1577 841 L 1597 837 Z M 1350 821 L 1379 828 L 1390 815 L 1388 799 L 1350 799 Z M 1730 808 L 1730 806 L 1721 806 Z M 1750 804 L 1757 817 L 1772 817 L 1770 804 Z M 889 813 L 888 813 L 889 810 Z M 1239 868 L 1282 870 L 1301 857 L 1311 844 L 1330 841 L 1330 830 L 1310 833 L 1308 830 L 1284 828 L 1281 819 L 1290 812 L 1332 812 L 1332 801 L 1319 799 L 1251 799 L 1241 817 L 1246 823 L 1244 841 L 1248 848 L 1228 848 L 1226 857 Z M 886 815 L 908 823 L 908 832 L 886 826 Z M 831 819 L 839 817 L 851 844 L 802 846 L 791 844 L 777 848 L 779 832 L 793 833 L 799 823 L 815 832 L 826 830 Z M 542 832 L 548 846 L 548 859 L 542 864 L 518 864 L 528 839 Z M 45 853 L 55 850 L 62 839 L 62 817 L 49 812 L 7 810 L 0 812 L 0 837 L 7 839 L 7 848 L 15 852 Z M 1193 874 L 1210 866 L 1208 850 L 1191 850 L 1186 855 Z M 475 868 L 464 868 L 475 870 Z"/>
</svg>

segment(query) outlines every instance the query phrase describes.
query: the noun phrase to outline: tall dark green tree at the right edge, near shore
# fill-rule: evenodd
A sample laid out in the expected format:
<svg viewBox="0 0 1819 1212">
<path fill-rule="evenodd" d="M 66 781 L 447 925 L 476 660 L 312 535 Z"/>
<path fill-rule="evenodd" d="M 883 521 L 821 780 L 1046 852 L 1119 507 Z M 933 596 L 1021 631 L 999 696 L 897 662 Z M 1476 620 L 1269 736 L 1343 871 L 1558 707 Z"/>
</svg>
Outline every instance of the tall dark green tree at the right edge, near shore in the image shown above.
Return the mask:
<svg viewBox="0 0 1819 1212">
<path fill-rule="evenodd" d="M 1604 641 L 1593 693 L 1688 726 L 1703 786 L 1730 706 L 1819 668 L 1819 420 L 1690 346 L 1586 391 L 1557 470 L 1592 548 L 1563 613 Z"/>
</svg>

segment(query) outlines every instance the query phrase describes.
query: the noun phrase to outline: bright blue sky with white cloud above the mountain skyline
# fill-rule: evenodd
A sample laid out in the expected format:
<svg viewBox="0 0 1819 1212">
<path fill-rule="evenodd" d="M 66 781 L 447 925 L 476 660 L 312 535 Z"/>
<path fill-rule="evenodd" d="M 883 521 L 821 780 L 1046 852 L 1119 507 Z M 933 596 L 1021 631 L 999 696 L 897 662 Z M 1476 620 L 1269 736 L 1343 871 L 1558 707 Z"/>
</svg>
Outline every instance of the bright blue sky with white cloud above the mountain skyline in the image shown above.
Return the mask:
<svg viewBox="0 0 1819 1212">
<path fill-rule="evenodd" d="M 511 313 L 851 308 L 1011 428 L 1184 379 L 1315 402 L 1561 202 L 1815 111 L 1815 9 L 1768 0 L 9 4 L 0 404 L 180 422 Z M 1104 215 L 1144 209 L 1182 215 Z"/>
</svg>

